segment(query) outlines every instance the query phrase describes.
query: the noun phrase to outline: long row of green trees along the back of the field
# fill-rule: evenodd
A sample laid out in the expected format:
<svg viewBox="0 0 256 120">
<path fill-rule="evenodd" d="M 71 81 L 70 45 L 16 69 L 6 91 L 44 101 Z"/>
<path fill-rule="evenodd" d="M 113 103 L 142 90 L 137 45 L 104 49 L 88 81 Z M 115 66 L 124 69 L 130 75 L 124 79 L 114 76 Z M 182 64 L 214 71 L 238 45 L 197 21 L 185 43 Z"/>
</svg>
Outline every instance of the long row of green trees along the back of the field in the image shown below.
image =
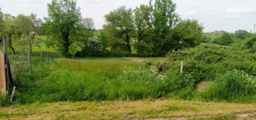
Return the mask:
<svg viewBox="0 0 256 120">
<path fill-rule="evenodd" d="M 10 49 L 15 45 L 32 53 L 43 42 L 64 57 L 139 56 L 162 57 L 169 51 L 197 46 L 203 25 L 197 19 L 181 19 L 172 0 L 152 0 L 135 9 L 121 6 L 104 16 L 106 24 L 95 30 L 91 18 L 82 18 L 75 0 L 52 0 L 48 16 L 16 17 L 0 13 L 0 32 L 6 34 Z M 44 21 L 44 22 L 43 22 Z"/>
</svg>

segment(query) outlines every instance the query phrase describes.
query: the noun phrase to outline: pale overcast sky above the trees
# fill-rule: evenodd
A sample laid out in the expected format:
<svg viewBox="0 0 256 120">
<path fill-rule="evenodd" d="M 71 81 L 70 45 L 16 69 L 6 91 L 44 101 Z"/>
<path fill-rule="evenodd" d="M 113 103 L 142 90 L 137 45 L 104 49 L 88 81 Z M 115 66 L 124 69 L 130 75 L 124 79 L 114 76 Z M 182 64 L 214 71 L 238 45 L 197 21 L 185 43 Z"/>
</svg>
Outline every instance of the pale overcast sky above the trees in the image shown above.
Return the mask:
<svg viewBox="0 0 256 120">
<path fill-rule="evenodd" d="M 36 13 L 39 18 L 47 16 L 47 3 L 51 0 L 0 0 L 3 13 L 13 16 L 19 13 Z M 94 19 L 96 29 L 105 24 L 103 16 L 119 6 L 135 8 L 148 4 L 149 0 L 77 0 L 82 17 Z M 204 32 L 224 30 L 253 30 L 256 23 L 256 0 L 173 0 L 182 19 L 199 19 Z"/>
</svg>

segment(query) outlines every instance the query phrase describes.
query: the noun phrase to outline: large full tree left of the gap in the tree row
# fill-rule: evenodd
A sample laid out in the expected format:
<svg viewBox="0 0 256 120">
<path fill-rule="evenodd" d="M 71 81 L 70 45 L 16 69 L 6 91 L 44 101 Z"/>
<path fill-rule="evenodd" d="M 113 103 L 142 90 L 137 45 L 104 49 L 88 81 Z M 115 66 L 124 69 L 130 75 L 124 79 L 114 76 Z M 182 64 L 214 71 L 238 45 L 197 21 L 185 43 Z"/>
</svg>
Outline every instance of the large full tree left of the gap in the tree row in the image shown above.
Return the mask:
<svg viewBox="0 0 256 120">
<path fill-rule="evenodd" d="M 48 41 L 57 47 L 64 57 L 69 57 L 69 46 L 74 43 L 75 34 L 81 21 L 80 8 L 75 0 L 52 0 L 48 6 L 46 32 L 54 41 Z"/>
</svg>

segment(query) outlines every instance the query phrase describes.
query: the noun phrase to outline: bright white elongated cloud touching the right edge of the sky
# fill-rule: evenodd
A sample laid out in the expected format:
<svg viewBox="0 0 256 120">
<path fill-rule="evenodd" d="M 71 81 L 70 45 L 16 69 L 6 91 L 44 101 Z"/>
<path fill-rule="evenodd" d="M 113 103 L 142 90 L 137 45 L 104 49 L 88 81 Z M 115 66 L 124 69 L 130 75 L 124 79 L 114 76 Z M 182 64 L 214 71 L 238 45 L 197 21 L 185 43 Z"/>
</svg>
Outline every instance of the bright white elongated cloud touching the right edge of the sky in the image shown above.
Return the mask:
<svg viewBox="0 0 256 120">
<path fill-rule="evenodd" d="M 256 8 L 252 7 L 229 7 L 226 10 L 222 10 L 222 13 L 256 13 Z"/>
</svg>

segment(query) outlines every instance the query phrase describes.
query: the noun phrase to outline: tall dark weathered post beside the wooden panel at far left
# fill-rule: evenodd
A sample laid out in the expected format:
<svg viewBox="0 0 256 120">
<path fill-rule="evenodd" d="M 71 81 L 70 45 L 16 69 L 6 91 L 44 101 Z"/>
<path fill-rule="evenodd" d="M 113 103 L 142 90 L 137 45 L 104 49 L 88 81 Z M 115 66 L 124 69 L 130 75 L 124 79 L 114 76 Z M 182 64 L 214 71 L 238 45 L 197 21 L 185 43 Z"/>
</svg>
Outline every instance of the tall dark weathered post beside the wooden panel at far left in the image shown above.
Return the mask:
<svg viewBox="0 0 256 120">
<path fill-rule="evenodd" d="M 9 76 L 9 69 L 8 69 L 8 54 L 7 54 L 7 40 L 6 40 L 6 35 L 4 36 L 4 59 L 5 59 L 5 81 L 6 81 L 6 91 L 8 94 L 8 90 L 9 90 L 9 80 L 8 80 L 8 76 Z"/>
</svg>

